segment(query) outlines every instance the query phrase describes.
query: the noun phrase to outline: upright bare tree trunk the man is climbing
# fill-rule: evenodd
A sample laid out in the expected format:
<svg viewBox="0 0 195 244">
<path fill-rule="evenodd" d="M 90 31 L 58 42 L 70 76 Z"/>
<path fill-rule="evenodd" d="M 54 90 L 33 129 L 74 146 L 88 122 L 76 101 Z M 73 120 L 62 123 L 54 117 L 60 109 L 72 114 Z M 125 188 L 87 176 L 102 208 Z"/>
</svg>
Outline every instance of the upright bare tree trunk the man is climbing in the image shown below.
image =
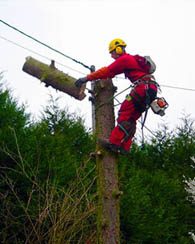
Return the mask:
<svg viewBox="0 0 195 244">
<path fill-rule="evenodd" d="M 112 80 L 95 84 L 96 137 L 109 138 L 115 126 Z M 98 244 L 119 244 L 119 189 L 117 155 L 96 146 L 98 170 Z"/>
</svg>

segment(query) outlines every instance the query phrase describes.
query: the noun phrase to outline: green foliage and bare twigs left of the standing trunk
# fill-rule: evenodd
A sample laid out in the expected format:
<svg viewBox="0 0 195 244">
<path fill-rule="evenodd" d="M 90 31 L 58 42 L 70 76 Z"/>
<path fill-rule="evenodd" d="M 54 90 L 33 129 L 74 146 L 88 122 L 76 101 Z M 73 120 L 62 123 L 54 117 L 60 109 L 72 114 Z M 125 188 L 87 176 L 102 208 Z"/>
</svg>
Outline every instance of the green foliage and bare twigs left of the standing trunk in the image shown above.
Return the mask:
<svg viewBox="0 0 195 244">
<path fill-rule="evenodd" d="M 41 121 L 29 123 L 24 107 L 16 106 L 8 91 L 1 95 L 0 112 L 6 118 L 0 128 L 2 133 L 6 131 L 1 137 L 1 243 L 57 243 L 50 236 L 52 226 L 56 227 L 55 236 L 58 229 L 69 233 L 57 238 L 89 238 L 84 235 L 88 221 L 95 223 L 90 220 L 95 209 L 91 204 L 94 160 L 87 159 L 93 139 L 82 120 L 59 110 L 56 101 L 51 101 Z M 63 223 L 59 220 L 62 206 L 67 208 Z M 76 235 L 70 233 L 74 227 Z"/>
</svg>

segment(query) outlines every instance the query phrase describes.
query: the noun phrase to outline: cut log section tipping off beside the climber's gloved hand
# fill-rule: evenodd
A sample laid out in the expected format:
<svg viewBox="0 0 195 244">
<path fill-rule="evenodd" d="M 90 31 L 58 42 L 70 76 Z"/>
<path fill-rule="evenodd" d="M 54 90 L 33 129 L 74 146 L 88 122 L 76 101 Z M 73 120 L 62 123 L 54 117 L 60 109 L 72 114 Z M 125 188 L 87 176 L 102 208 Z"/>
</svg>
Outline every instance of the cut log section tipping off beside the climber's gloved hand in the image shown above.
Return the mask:
<svg viewBox="0 0 195 244">
<path fill-rule="evenodd" d="M 78 100 L 82 100 L 86 96 L 84 93 L 86 86 L 83 85 L 81 88 L 75 87 L 74 83 L 76 79 L 57 70 L 54 66 L 54 61 L 49 66 L 32 57 L 27 57 L 23 65 L 23 71 L 38 78 L 46 86 L 52 86 Z"/>
</svg>

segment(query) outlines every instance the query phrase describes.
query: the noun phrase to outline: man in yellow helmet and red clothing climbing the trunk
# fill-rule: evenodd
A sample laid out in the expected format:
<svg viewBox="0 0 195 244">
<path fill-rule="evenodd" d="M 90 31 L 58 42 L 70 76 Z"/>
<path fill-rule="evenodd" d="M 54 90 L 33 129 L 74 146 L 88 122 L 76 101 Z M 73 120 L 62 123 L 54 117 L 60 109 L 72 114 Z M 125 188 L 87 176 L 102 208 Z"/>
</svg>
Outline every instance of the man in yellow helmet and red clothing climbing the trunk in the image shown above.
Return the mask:
<svg viewBox="0 0 195 244">
<path fill-rule="evenodd" d="M 88 74 L 75 82 L 81 87 L 87 81 L 113 78 L 124 73 L 125 77 L 133 83 L 130 94 L 121 104 L 117 125 L 112 130 L 109 139 L 99 139 L 99 143 L 114 152 L 128 153 L 136 131 L 136 121 L 146 110 L 147 106 L 157 95 L 158 84 L 151 73 L 151 63 L 139 55 L 126 53 L 126 43 L 121 39 L 114 39 L 109 44 L 109 53 L 115 61 L 107 67 Z"/>
</svg>

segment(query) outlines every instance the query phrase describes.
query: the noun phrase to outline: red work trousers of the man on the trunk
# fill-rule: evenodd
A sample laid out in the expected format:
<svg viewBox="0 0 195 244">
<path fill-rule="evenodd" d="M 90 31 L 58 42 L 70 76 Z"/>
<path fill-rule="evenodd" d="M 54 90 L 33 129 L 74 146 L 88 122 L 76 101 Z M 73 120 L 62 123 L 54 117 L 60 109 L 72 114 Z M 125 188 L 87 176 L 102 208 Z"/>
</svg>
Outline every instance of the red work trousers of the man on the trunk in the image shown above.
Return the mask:
<svg viewBox="0 0 195 244">
<path fill-rule="evenodd" d="M 141 104 L 140 106 L 135 103 L 135 100 L 145 101 L 146 99 L 146 89 L 149 86 L 148 91 L 152 91 L 151 101 L 156 97 L 157 88 L 154 84 L 140 84 L 136 86 L 130 93 L 129 96 L 123 101 L 119 110 L 119 116 L 117 119 L 118 124 L 121 122 L 127 121 L 131 122 L 134 128 L 136 128 L 136 121 L 140 118 L 142 112 L 146 108 L 145 104 Z M 136 93 L 136 95 L 135 95 Z M 139 99 L 138 99 L 139 97 Z M 111 132 L 109 141 L 112 144 L 122 146 L 126 151 L 129 150 L 132 144 L 133 135 L 128 138 L 128 140 L 124 140 L 125 132 L 121 130 L 121 128 L 117 125 Z"/>
</svg>

